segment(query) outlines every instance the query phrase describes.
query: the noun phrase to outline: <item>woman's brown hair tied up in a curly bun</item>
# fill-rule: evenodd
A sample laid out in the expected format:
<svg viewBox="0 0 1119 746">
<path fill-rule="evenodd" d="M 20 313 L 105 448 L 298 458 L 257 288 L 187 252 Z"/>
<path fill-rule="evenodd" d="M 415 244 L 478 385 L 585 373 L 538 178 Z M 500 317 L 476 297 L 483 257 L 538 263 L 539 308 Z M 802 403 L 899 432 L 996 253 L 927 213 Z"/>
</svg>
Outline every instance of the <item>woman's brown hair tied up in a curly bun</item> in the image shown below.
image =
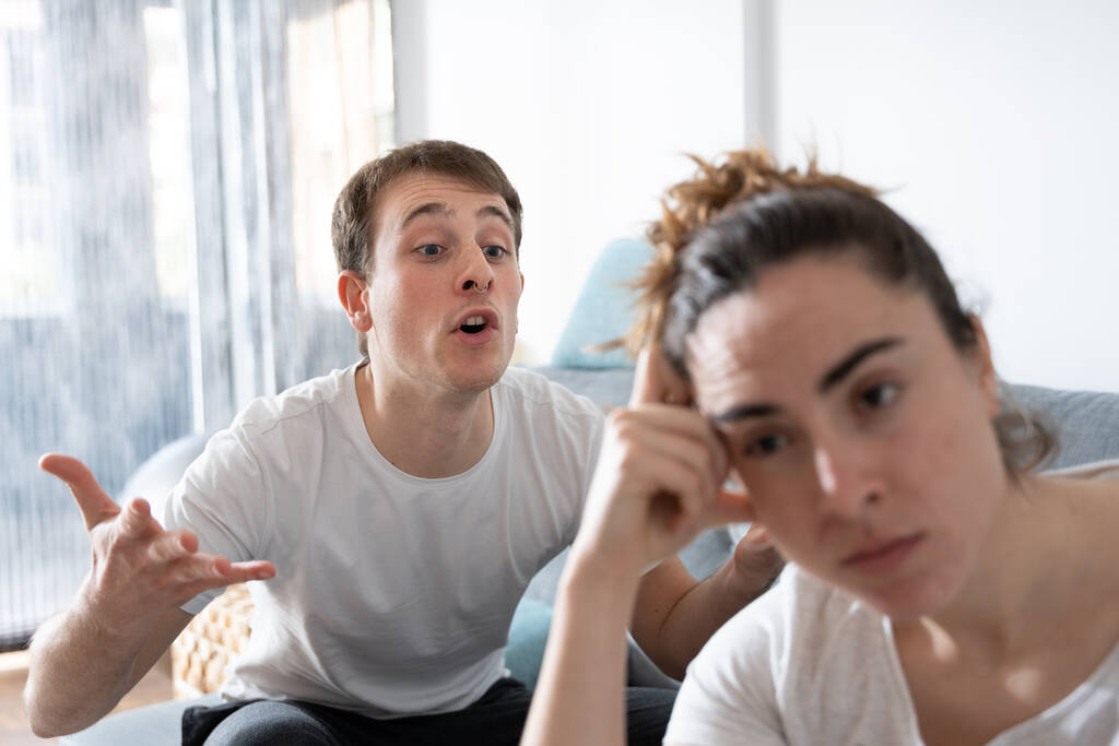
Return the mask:
<svg viewBox="0 0 1119 746">
<path fill-rule="evenodd" d="M 809 254 L 855 257 L 885 284 L 924 294 L 958 350 L 978 342 L 976 319 L 937 253 L 875 189 L 825 173 L 815 159 L 803 170 L 782 169 L 760 149 L 693 160 L 695 174 L 667 190 L 661 218 L 648 230 L 655 255 L 634 283 L 631 352 L 657 342 L 687 380 L 685 341 L 704 312 L 753 287 L 767 267 Z M 1004 406 L 994 425 L 1012 474 L 1052 450 L 1046 428 L 1017 407 Z"/>
</svg>

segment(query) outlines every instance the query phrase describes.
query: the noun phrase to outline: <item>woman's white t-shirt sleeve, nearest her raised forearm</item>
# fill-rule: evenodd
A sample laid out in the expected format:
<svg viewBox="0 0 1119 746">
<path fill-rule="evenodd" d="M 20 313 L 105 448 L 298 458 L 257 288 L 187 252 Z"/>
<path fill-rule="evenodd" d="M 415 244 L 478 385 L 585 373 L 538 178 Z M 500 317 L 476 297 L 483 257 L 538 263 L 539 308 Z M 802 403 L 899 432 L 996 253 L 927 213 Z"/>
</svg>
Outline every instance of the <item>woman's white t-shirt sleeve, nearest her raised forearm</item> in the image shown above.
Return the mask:
<svg viewBox="0 0 1119 746">
<path fill-rule="evenodd" d="M 665 744 L 786 743 L 775 667 L 782 658 L 775 617 L 781 584 L 723 625 L 688 665 Z"/>
</svg>

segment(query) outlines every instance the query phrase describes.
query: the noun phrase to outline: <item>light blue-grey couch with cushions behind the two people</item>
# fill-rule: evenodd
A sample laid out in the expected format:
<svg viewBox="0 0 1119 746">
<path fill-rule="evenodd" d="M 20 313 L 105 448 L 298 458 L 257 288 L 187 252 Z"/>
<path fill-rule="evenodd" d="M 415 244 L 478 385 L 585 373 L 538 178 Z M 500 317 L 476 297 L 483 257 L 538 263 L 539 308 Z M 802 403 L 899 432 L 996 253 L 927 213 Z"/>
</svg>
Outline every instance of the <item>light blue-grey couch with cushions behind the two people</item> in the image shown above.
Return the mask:
<svg viewBox="0 0 1119 746">
<path fill-rule="evenodd" d="M 629 399 L 633 369 L 619 351 L 596 351 L 598 342 L 617 338 L 629 318 L 629 296 L 620 284 L 632 276 L 648 256 L 641 242 L 618 240 L 606 246 L 561 336 L 551 365 L 536 367 L 548 378 L 587 396 L 608 409 Z M 1068 391 L 1038 386 L 1009 385 L 1018 404 L 1034 412 L 1059 436 L 1059 448 L 1047 466 L 1060 469 L 1106 459 L 1119 459 L 1119 393 Z M 135 473 L 123 491 L 126 495 L 158 495 L 201 451 L 204 436 L 190 436 L 156 454 Z M 722 565 L 733 547 L 726 529 L 699 536 L 681 553 L 696 577 L 706 577 Z M 536 681 L 551 621 L 552 598 L 563 569 L 561 554 L 532 580 L 513 621 L 506 664 L 517 678 Z M 637 686 L 676 687 L 641 651 L 630 644 L 629 680 Z M 201 701 L 216 701 L 206 695 Z M 133 743 L 159 746 L 179 743 L 179 716 L 199 700 L 176 700 L 120 712 L 91 728 L 62 739 L 64 744 L 100 746 Z"/>
</svg>

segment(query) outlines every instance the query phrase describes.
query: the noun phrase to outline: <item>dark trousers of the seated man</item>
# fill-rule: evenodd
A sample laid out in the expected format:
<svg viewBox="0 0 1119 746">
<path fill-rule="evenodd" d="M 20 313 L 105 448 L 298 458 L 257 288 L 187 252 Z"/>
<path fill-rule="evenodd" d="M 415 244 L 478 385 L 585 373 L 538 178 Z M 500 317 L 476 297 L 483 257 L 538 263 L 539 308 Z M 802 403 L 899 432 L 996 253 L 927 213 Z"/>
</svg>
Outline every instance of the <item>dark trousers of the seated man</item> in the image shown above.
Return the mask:
<svg viewBox="0 0 1119 746">
<path fill-rule="evenodd" d="M 300 701 L 257 699 L 182 714 L 184 746 L 294 746 L 316 744 L 509 744 L 516 746 L 533 693 L 515 679 L 502 679 L 481 699 L 455 712 L 378 720 Z M 629 743 L 659 745 L 676 692 L 630 687 L 626 690 Z"/>
</svg>

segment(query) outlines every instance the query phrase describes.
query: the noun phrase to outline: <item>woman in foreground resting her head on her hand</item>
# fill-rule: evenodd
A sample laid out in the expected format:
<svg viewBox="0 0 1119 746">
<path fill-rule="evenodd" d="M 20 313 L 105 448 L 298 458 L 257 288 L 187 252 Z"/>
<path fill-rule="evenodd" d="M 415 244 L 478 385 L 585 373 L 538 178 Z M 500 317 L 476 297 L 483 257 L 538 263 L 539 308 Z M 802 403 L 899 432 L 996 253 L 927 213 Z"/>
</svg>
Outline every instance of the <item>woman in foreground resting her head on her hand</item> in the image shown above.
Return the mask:
<svg viewBox="0 0 1119 746">
<path fill-rule="evenodd" d="M 1119 744 L 1119 463 L 1032 471 L 1046 436 L 871 189 L 699 167 L 650 230 L 647 351 L 523 743 L 622 743 L 640 573 L 739 514 L 790 566 L 692 662 L 666 743 Z"/>
</svg>

